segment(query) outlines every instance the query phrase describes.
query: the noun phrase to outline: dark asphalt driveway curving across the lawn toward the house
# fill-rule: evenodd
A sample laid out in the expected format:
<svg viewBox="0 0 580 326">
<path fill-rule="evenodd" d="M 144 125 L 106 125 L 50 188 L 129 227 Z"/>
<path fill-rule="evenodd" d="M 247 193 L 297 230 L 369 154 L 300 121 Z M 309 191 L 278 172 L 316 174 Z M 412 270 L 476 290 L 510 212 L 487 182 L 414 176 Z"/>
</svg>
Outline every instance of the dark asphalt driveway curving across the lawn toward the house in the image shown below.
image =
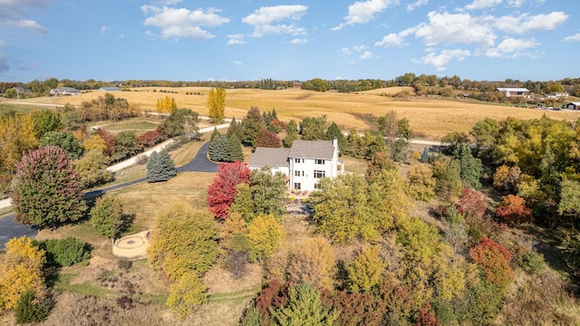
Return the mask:
<svg viewBox="0 0 580 326">
<path fill-rule="evenodd" d="M 208 142 L 203 144 L 198 150 L 198 154 L 188 164 L 178 168 L 178 172 L 217 172 L 218 164 L 208 159 Z M 145 177 L 137 180 L 132 180 L 120 185 L 105 187 L 98 190 L 93 190 L 84 193 L 84 197 L 102 196 L 107 191 L 119 189 L 121 187 L 128 187 L 145 181 Z M 34 238 L 38 234 L 38 230 L 30 225 L 21 225 L 14 221 L 14 214 L 10 214 L 0 218 L 0 251 L 4 250 L 5 244 L 13 237 L 26 235 Z"/>
</svg>

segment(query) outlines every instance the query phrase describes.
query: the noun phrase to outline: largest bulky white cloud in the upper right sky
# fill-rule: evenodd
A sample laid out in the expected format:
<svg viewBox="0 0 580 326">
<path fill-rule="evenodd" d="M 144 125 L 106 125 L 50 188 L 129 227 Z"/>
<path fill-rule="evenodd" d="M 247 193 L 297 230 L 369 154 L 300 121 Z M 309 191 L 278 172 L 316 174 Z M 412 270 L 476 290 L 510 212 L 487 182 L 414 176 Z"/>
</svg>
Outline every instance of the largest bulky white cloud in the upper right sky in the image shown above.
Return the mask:
<svg viewBox="0 0 580 326">
<path fill-rule="evenodd" d="M 473 17 L 470 14 L 449 14 L 430 12 L 429 24 L 420 24 L 414 31 L 428 46 L 439 43 L 478 43 L 493 46 L 498 37 L 488 24 L 487 17 Z"/>
</svg>

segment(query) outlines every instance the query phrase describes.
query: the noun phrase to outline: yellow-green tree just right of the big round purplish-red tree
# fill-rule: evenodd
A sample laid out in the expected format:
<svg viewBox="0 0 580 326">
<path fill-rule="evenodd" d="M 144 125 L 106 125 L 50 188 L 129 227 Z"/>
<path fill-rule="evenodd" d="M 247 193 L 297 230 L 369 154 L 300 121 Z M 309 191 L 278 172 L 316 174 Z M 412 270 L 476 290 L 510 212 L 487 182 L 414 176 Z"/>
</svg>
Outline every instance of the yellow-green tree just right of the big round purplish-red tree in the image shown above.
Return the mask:
<svg viewBox="0 0 580 326">
<path fill-rule="evenodd" d="M 109 160 L 98 150 L 90 150 L 75 161 L 74 167 L 81 177 L 81 187 L 88 189 L 112 181 L 112 174 L 107 170 L 108 162 Z"/>
</svg>

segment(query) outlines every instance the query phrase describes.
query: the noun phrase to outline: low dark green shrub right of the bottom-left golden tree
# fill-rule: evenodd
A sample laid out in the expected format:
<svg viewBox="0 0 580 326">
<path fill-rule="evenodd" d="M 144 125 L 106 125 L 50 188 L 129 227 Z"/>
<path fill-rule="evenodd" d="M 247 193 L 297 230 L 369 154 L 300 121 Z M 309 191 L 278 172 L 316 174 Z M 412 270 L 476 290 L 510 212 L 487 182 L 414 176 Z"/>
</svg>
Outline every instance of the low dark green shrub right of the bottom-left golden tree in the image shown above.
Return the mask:
<svg viewBox="0 0 580 326">
<path fill-rule="evenodd" d="M 48 265 L 70 266 L 91 257 L 89 246 L 73 236 L 64 239 L 48 239 L 37 242 L 36 245 L 46 252 Z"/>
</svg>

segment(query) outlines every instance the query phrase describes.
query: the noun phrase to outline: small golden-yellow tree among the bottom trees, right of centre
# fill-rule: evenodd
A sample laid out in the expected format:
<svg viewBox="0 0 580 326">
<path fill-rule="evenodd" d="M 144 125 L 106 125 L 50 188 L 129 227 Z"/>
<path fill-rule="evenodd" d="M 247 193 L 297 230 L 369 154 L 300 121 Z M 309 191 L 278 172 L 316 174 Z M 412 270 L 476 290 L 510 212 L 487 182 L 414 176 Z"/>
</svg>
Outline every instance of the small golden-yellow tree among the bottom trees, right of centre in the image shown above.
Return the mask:
<svg viewBox="0 0 580 326">
<path fill-rule="evenodd" d="M 362 249 L 357 257 L 346 266 L 349 287 L 353 292 L 368 292 L 381 283 L 387 264 L 381 258 L 381 247 L 372 245 Z"/>
</svg>

